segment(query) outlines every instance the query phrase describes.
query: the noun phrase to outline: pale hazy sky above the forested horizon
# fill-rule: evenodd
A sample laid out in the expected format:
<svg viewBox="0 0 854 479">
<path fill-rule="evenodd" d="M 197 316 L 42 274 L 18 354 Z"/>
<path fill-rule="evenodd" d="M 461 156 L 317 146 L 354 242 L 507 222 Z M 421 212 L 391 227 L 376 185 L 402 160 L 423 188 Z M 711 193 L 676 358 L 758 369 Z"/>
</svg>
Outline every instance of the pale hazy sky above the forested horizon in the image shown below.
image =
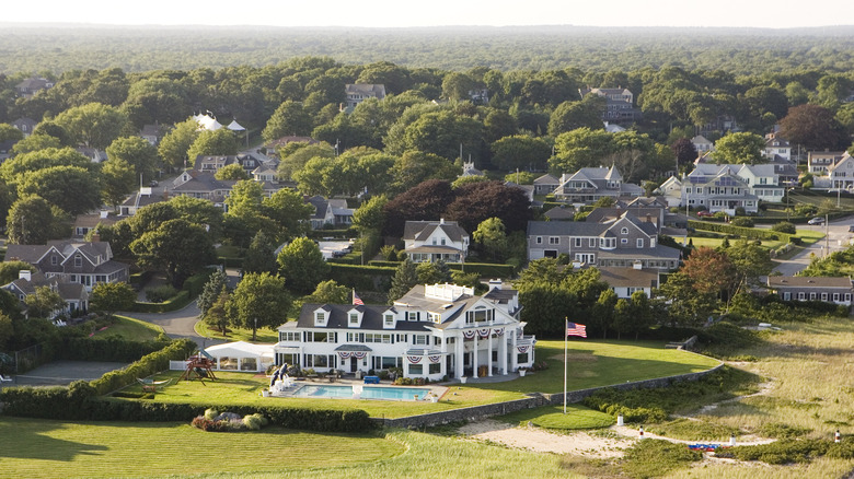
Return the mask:
<svg viewBox="0 0 854 479">
<path fill-rule="evenodd" d="M 754 26 L 852 24 L 850 0 L 39 0 L 0 22 L 413 27 L 445 25 Z M 808 7 L 807 7 L 808 5 Z M 829 13 L 822 15 L 821 13 Z M 835 13 L 835 14 L 834 14 Z"/>
</svg>

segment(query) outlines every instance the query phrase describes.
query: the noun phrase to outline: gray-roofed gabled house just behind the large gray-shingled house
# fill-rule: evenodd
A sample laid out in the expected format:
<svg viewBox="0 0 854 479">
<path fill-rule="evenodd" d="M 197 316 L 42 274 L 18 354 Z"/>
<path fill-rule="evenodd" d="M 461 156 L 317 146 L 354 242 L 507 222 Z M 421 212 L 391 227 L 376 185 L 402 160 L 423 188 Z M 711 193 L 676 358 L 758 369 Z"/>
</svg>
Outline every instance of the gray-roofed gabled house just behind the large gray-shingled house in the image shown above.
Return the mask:
<svg viewBox="0 0 854 479">
<path fill-rule="evenodd" d="M 623 175 L 615 166 L 607 168 L 581 168 L 572 175 L 561 175 L 559 185 L 554 190 L 558 201 L 593 203 L 601 198 L 630 198 L 644 194 L 644 188 L 623 183 Z"/>
</svg>

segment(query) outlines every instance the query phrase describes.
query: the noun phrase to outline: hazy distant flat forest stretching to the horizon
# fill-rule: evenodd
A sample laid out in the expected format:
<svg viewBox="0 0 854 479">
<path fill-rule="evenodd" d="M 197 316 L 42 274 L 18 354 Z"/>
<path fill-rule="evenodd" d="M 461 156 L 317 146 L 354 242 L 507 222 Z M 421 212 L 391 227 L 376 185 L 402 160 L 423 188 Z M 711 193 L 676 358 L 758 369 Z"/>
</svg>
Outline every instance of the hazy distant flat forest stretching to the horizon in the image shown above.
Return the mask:
<svg viewBox="0 0 854 479">
<path fill-rule="evenodd" d="M 736 13 L 734 13 L 736 14 Z M 2 25 L 2 24 L 0 24 Z M 127 72 L 278 63 L 332 56 L 344 63 L 501 71 L 567 67 L 607 72 L 678 66 L 735 74 L 854 69 L 852 27 L 47 28 L 2 25 L 0 72 L 118 67 Z"/>
</svg>

